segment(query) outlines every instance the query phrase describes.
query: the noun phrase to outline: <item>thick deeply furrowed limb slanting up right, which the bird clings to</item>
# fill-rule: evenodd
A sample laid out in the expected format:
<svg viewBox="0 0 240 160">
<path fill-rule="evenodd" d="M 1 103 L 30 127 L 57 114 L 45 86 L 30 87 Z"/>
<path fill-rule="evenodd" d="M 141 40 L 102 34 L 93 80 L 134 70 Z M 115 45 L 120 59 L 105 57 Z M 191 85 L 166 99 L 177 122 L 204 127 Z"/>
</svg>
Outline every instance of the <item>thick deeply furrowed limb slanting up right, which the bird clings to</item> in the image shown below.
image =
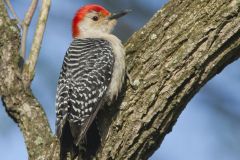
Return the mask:
<svg viewBox="0 0 240 160">
<path fill-rule="evenodd" d="M 199 89 L 239 58 L 239 24 L 236 0 L 171 0 L 157 12 L 126 44 L 137 90 L 127 88 L 114 120 L 102 111 L 97 159 L 148 159 Z"/>
</svg>

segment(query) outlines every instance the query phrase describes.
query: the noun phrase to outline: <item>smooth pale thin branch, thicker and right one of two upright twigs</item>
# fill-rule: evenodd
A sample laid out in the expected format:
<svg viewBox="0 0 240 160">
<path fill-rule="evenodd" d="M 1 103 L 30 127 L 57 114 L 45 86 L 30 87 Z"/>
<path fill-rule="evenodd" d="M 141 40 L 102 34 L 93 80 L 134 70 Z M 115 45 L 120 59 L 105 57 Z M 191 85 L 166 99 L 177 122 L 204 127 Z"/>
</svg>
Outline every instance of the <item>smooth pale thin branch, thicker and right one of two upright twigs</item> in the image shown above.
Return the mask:
<svg viewBox="0 0 240 160">
<path fill-rule="evenodd" d="M 37 29 L 34 35 L 30 55 L 23 69 L 23 78 L 24 78 L 25 86 L 29 86 L 31 80 L 34 77 L 35 66 L 37 63 L 37 59 L 38 59 L 38 55 L 39 55 L 39 51 L 40 51 L 40 47 L 43 39 L 43 34 L 44 34 L 44 30 L 47 23 L 50 4 L 51 4 L 51 0 L 42 0 L 42 7 L 40 10 Z"/>
</svg>

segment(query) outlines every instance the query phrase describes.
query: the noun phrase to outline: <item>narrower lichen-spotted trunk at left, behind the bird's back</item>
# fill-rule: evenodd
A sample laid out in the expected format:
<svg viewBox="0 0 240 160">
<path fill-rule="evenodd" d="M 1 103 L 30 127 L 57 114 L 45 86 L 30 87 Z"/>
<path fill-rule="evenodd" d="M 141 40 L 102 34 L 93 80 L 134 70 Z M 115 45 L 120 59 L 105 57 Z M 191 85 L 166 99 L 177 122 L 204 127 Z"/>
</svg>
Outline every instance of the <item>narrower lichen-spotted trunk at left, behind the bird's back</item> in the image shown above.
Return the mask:
<svg viewBox="0 0 240 160">
<path fill-rule="evenodd" d="M 30 88 L 24 87 L 20 58 L 20 30 L 0 0 L 0 96 L 9 116 L 23 133 L 31 160 L 58 157 L 57 139 Z M 56 153 L 55 153 L 56 152 Z M 55 153 L 55 154 L 53 154 Z M 55 158 L 56 159 L 56 158 Z"/>
</svg>

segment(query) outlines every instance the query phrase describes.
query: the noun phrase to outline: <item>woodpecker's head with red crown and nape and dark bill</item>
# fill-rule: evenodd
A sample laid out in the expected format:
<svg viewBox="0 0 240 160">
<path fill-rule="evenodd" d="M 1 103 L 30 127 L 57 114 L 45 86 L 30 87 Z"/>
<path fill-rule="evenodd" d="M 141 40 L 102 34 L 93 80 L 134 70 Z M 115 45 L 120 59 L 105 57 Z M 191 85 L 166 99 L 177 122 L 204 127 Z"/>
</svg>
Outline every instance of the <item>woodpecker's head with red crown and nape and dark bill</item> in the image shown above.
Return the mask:
<svg viewBox="0 0 240 160">
<path fill-rule="evenodd" d="M 87 33 L 110 33 L 119 17 L 127 14 L 129 10 L 111 14 L 104 7 L 97 4 L 88 4 L 81 7 L 72 21 L 73 38 L 84 37 Z"/>
</svg>

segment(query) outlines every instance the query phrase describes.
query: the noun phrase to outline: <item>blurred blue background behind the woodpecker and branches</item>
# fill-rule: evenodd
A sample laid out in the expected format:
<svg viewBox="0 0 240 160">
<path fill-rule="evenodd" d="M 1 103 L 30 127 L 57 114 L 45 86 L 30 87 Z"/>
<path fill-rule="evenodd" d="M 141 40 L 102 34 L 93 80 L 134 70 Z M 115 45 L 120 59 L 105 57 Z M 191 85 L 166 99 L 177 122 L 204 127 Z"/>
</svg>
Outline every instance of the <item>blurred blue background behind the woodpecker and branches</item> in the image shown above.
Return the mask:
<svg viewBox="0 0 240 160">
<path fill-rule="evenodd" d="M 30 0 L 11 0 L 23 19 Z M 40 1 L 41 2 L 41 1 Z M 44 106 L 52 130 L 55 130 L 56 84 L 71 38 L 71 19 L 87 3 L 98 3 L 110 11 L 132 9 L 119 21 L 114 34 L 126 42 L 167 0 L 52 0 L 41 54 L 32 83 L 34 95 Z M 38 10 L 39 11 L 38 6 Z M 30 27 L 27 51 L 32 42 L 37 14 Z M 172 132 L 150 160 L 239 160 L 240 159 L 240 60 L 226 67 L 191 100 Z M 0 159 L 26 160 L 22 134 L 0 104 Z"/>
</svg>

